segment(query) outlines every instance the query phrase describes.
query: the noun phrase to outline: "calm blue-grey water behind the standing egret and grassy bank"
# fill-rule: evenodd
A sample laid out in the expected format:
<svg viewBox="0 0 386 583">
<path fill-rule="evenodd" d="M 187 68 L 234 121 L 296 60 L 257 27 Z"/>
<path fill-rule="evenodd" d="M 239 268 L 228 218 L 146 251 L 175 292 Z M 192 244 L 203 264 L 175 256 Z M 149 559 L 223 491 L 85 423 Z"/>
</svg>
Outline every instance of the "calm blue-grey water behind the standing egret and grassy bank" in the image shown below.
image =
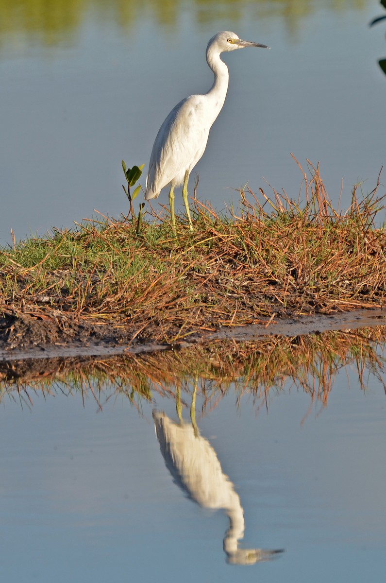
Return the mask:
<svg viewBox="0 0 386 583">
<path fill-rule="evenodd" d="M 0 0 L 0 244 L 11 228 L 24 238 L 93 209 L 127 212 L 121 159 L 148 164 L 174 104 L 209 89 L 205 47 L 222 29 L 272 48 L 224 57 L 230 90 L 196 167 L 199 198 L 221 210 L 247 182 L 269 192 L 263 177 L 297 196 L 293 152 L 304 168 L 320 161 L 335 204 L 343 180 L 346 208 L 386 162 L 384 26 L 369 27 L 382 11 L 377 0 Z"/>
</svg>

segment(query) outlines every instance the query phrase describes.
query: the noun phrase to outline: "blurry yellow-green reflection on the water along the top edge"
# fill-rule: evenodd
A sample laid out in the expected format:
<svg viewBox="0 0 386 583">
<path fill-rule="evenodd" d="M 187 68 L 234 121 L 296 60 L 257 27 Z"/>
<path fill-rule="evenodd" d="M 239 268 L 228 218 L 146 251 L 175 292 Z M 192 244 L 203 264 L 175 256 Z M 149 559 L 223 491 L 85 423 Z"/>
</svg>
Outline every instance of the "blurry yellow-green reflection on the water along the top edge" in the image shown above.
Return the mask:
<svg viewBox="0 0 386 583">
<path fill-rule="evenodd" d="M 1 39 L 13 37 L 17 44 L 39 44 L 50 47 L 70 42 L 78 35 L 86 19 L 103 26 L 113 22 L 127 31 L 142 19 L 149 19 L 162 28 L 176 29 L 189 8 L 195 22 L 219 24 L 231 20 L 237 23 L 246 15 L 265 19 L 280 17 L 294 33 L 304 17 L 317 12 L 315 0 L 0 0 Z M 344 13 L 363 10 L 365 0 L 327 0 L 324 10 Z"/>
</svg>

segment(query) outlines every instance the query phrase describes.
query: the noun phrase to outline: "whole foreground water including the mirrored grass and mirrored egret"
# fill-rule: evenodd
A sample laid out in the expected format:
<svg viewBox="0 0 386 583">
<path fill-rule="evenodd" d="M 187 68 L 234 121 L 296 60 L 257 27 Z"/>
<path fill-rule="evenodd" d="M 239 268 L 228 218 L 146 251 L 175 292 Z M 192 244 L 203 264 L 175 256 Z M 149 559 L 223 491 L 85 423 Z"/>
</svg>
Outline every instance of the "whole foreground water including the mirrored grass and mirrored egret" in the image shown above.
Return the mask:
<svg viewBox="0 0 386 583">
<path fill-rule="evenodd" d="M 1 580 L 381 580 L 384 328 L 1 363 Z"/>
</svg>

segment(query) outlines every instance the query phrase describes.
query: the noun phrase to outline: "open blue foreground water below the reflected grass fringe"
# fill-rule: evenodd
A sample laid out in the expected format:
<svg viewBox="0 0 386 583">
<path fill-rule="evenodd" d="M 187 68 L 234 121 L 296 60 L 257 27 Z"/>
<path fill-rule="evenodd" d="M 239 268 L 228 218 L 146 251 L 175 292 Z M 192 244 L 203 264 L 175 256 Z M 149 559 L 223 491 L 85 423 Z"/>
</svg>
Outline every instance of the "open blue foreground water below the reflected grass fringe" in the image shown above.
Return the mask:
<svg viewBox="0 0 386 583">
<path fill-rule="evenodd" d="M 364 378 L 360 390 L 343 368 L 325 406 L 286 385 L 266 403 L 230 390 L 202 415 L 198 392 L 196 436 L 184 392 L 185 423 L 171 426 L 180 433 L 159 429 L 158 440 L 152 411 L 170 427 L 174 399 L 130 405 L 112 386 L 82 397 L 59 384 L 45 396 L 28 389 L 33 404 L 3 395 L 1 580 L 380 581 L 386 397 Z M 192 469 L 185 459 L 173 481 L 165 459 L 184 448 Z M 225 490 L 224 510 L 208 509 Z M 223 545 L 236 556 L 243 515 L 238 550 L 285 552 L 228 564 Z"/>
</svg>

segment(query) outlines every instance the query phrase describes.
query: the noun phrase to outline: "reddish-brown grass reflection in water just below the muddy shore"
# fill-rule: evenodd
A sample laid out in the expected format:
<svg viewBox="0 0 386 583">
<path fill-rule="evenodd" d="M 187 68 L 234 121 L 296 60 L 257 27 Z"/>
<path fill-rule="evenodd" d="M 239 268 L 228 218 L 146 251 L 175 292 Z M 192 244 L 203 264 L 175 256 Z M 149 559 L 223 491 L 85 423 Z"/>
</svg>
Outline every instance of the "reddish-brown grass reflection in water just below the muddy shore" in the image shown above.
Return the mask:
<svg viewBox="0 0 386 583">
<path fill-rule="evenodd" d="M 385 326 L 258 342 L 220 340 L 180 351 L 114 357 L 26 359 L 0 363 L 0 401 L 33 405 L 34 395 L 73 393 L 94 399 L 99 408 L 123 395 L 141 408 L 155 396 L 178 399 L 190 407 L 192 385 L 202 396 L 202 414 L 216 407 L 228 392 L 251 395 L 254 407 L 269 407 L 273 396 L 296 388 L 311 403 L 327 406 L 337 375 L 350 367 L 356 384 L 366 390 L 376 380 L 384 388 Z M 111 391 L 113 387 L 113 391 Z M 184 394 L 187 395 L 184 399 Z"/>
</svg>

